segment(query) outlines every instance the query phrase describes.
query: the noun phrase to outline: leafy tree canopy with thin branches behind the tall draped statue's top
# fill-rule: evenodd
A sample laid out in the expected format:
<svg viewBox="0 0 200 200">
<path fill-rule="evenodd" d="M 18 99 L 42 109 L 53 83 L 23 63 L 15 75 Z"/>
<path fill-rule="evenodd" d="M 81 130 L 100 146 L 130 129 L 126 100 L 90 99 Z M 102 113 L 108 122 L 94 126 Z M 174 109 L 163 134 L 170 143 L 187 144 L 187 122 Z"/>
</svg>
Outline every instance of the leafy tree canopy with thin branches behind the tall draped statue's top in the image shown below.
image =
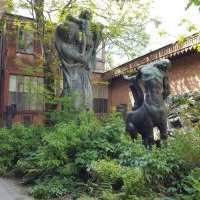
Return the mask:
<svg viewBox="0 0 200 200">
<path fill-rule="evenodd" d="M 58 23 L 66 14 L 91 10 L 95 20 L 104 25 L 107 62 L 112 65 L 116 56 L 132 59 L 146 47 L 149 37 L 145 27 L 153 20 L 149 17 L 151 3 L 151 0 L 21 0 L 17 7 L 28 9 L 40 29 L 45 26 L 44 20 Z"/>
</svg>

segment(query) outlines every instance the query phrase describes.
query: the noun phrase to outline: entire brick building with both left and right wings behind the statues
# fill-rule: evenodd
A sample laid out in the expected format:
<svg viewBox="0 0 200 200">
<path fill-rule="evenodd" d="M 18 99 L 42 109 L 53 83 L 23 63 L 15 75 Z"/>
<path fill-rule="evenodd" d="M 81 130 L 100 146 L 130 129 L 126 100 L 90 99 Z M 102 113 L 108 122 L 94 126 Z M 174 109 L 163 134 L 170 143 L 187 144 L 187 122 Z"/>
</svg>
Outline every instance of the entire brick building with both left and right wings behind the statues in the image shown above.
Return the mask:
<svg viewBox="0 0 200 200">
<path fill-rule="evenodd" d="M 12 122 L 41 124 L 44 119 L 44 97 L 40 88 L 44 84 L 44 74 L 39 70 L 38 63 L 42 49 L 33 32 L 24 28 L 33 20 L 11 14 L 5 14 L 3 18 L 4 24 L 0 18 L 1 125 L 5 125 L 5 114 L 11 105 L 16 105 Z M 186 38 L 183 44 L 169 44 L 106 72 L 104 47 L 100 47 L 92 76 L 94 111 L 102 114 L 119 106 L 131 108 L 133 97 L 129 83 L 123 80 L 122 75 L 134 73 L 141 65 L 160 58 L 172 61 L 169 70 L 172 94 L 199 90 L 200 53 L 195 48 L 199 43 L 200 36 L 195 34 Z M 29 69 L 34 69 L 34 73 L 30 74 Z"/>
</svg>

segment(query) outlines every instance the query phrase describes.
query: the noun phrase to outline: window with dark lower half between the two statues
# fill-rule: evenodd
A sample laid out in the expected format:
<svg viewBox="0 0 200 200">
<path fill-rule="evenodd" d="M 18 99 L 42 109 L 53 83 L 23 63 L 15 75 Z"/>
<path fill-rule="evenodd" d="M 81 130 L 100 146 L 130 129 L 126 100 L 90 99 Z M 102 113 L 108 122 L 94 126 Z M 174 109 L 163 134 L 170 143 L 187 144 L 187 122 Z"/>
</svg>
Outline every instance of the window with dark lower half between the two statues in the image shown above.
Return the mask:
<svg viewBox="0 0 200 200">
<path fill-rule="evenodd" d="M 107 113 L 108 111 L 108 86 L 102 84 L 93 85 L 93 109 L 95 113 Z"/>
</svg>

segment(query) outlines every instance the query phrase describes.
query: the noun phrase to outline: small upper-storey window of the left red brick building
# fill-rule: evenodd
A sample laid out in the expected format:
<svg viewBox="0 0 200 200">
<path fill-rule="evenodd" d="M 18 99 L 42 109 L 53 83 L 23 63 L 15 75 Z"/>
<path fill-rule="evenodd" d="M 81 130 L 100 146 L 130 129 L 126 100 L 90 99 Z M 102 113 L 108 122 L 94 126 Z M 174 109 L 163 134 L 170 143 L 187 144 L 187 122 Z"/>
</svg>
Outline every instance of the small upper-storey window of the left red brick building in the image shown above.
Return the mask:
<svg viewBox="0 0 200 200">
<path fill-rule="evenodd" d="M 17 50 L 33 53 L 33 32 L 21 26 L 18 30 Z"/>
</svg>

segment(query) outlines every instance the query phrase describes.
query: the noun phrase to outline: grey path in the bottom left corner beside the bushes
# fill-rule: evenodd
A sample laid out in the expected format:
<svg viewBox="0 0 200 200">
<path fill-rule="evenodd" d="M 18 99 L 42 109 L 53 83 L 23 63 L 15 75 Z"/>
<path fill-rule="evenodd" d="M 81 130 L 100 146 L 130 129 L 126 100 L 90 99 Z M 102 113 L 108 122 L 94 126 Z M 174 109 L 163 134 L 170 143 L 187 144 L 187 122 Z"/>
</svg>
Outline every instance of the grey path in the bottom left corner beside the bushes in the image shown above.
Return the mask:
<svg viewBox="0 0 200 200">
<path fill-rule="evenodd" d="M 13 180 L 0 178 L 0 200 L 33 200 L 23 187 Z"/>
</svg>

